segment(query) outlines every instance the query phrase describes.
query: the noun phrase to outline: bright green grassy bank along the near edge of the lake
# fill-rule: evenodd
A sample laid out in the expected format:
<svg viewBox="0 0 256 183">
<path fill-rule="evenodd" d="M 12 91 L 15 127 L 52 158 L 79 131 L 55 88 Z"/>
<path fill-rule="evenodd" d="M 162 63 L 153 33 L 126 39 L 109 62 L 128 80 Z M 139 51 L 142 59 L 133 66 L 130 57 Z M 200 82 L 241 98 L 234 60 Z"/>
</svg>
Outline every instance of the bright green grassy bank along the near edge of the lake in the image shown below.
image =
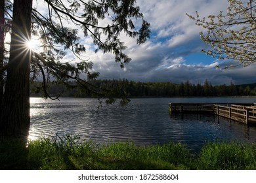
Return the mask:
<svg viewBox="0 0 256 183">
<path fill-rule="evenodd" d="M 182 144 L 99 145 L 77 136 L 39 139 L 28 145 L 0 140 L 1 169 L 256 169 L 256 146 L 207 143 L 196 156 Z"/>
</svg>

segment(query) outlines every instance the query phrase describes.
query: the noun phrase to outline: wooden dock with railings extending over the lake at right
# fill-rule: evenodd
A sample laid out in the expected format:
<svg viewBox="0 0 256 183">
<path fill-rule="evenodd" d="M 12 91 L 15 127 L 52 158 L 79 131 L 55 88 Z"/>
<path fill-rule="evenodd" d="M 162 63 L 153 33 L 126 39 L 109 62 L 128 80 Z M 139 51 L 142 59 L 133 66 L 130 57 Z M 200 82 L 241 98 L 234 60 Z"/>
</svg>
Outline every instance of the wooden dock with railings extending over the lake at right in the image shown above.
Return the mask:
<svg viewBox="0 0 256 183">
<path fill-rule="evenodd" d="M 209 113 L 244 124 L 256 123 L 255 103 L 169 103 L 169 112 Z"/>
</svg>

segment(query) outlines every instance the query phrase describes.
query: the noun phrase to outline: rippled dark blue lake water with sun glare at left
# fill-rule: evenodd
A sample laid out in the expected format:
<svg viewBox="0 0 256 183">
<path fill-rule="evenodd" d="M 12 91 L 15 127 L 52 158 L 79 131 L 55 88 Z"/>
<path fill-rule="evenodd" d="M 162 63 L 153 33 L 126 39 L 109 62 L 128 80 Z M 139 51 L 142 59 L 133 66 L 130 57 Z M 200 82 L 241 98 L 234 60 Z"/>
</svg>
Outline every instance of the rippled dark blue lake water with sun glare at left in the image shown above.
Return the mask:
<svg viewBox="0 0 256 183">
<path fill-rule="evenodd" d="M 29 139 L 56 133 L 79 134 L 97 143 L 133 141 L 139 145 L 181 142 L 198 151 L 207 141 L 256 141 L 256 126 L 207 114 L 169 115 L 169 103 L 256 103 L 251 97 L 131 99 L 125 107 L 97 99 L 30 98 Z"/>
</svg>

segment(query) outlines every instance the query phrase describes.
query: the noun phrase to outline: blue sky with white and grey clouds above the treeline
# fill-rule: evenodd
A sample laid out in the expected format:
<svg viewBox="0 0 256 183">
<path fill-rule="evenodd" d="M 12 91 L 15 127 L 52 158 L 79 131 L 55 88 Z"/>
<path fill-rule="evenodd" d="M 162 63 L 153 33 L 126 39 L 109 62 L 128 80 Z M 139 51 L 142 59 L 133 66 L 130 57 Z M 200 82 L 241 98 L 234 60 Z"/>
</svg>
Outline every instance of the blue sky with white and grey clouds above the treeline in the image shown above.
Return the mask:
<svg viewBox="0 0 256 183">
<path fill-rule="evenodd" d="M 114 61 L 114 55 L 103 54 L 91 48 L 91 39 L 83 37 L 87 44 L 85 59 L 93 61 L 94 71 L 100 79 L 127 79 L 137 82 L 173 82 L 180 84 L 187 80 L 193 84 L 203 84 L 208 80 L 213 85 L 255 83 L 256 65 L 235 67 L 234 69 L 215 69 L 216 65 L 228 65 L 201 52 L 207 48 L 200 39 L 201 27 L 186 16 L 186 13 L 200 16 L 226 12 L 226 0 L 137 0 L 144 19 L 151 24 L 151 37 L 138 46 L 136 39 L 121 35 L 125 42 L 131 63 L 124 69 Z M 64 60 L 72 59 L 68 54 Z M 236 62 L 238 64 L 238 62 Z M 235 63 L 235 64 L 236 64 Z"/>
</svg>

